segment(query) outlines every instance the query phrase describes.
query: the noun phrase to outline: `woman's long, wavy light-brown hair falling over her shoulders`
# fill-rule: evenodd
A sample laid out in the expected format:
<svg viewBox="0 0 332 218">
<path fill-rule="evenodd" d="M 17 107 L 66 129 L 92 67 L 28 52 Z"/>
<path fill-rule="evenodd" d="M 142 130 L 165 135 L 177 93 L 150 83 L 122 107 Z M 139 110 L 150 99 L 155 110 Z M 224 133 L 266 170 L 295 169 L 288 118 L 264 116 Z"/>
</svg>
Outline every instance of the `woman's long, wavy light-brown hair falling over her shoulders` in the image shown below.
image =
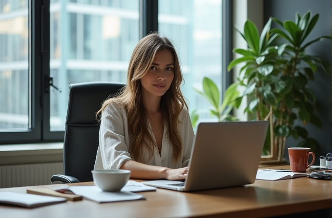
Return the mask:
<svg viewBox="0 0 332 218">
<path fill-rule="evenodd" d="M 149 159 L 153 154 L 155 142 L 148 130 L 148 113 L 142 100 L 142 87 L 140 79 L 150 68 L 157 51 L 168 49 L 172 52 L 174 58 L 174 78 L 166 93 L 161 98 L 160 109 L 166 125 L 168 138 L 173 147 L 173 160 L 181 160 L 182 138 L 179 132 L 178 124 L 179 114 L 187 107 L 186 101 L 180 90 L 183 81 L 183 75 L 180 68 L 179 58 L 175 48 L 170 40 L 160 36 L 158 33 L 151 33 L 142 38 L 136 45 L 130 58 L 127 85 L 122 93 L 115 98 L 104 101 L 102 108 L 97 112 L 101 113 L 107 105 L 115 103 L 119 107 L 125 108 L 128 119 L 128 129 L 132 135 L 129 153 L 133 160 L 144 163 L 143 147 L 149 152 Z"/>
</svg>

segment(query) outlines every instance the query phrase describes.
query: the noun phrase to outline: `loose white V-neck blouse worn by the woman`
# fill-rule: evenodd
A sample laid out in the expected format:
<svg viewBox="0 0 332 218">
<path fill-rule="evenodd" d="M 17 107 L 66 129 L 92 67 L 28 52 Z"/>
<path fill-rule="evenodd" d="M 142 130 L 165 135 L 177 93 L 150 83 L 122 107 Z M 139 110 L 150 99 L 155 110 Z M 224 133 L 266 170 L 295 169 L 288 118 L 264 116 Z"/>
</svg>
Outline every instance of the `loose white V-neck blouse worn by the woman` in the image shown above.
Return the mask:
<svg viewBox="0 0 332 218">
<path fill-rule="evenodd" d="M 181 111 L 179 120 L 181 121 L 179 131 L 183 142 L 182 161 L 178 163 L 172 161 L 173 148 L 168 139 L 167 129 L 164 127 L 161 155 L 156 146 L 153 146 L 153 154 L 150 159 L 148 151 L 143 150 L 145 164 L 171 169 L 187 166 L 195 137 L 187 109 Z M 150 127 L 150 124 L 148 125 Z M 152 132 L 151 135 L 153 136 Z M 131 141 L 125 109 L 112 103 L 109 104 L 102 112 L 99 146 L 94 169 L 119 169 L 125 161 L 132 160 L 129 154 Z"/>
</svg>

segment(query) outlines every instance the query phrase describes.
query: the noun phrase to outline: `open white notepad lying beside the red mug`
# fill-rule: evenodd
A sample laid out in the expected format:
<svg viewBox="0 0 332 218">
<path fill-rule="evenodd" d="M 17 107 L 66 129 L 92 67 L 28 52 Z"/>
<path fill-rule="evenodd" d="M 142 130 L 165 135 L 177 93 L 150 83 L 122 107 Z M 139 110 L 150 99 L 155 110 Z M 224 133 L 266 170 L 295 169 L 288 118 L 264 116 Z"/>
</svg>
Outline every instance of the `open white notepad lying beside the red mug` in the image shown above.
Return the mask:
<svg viewBox="0 0 332 218">
<path fill-rule="evenodd" d="M 258 170 L 256 174 L 256 180 L 276 181 L 276 180 L 287 180 L 287 179 L 293 179 L 305 176 L 307 176 L 307 173 Z"/>
</svg>

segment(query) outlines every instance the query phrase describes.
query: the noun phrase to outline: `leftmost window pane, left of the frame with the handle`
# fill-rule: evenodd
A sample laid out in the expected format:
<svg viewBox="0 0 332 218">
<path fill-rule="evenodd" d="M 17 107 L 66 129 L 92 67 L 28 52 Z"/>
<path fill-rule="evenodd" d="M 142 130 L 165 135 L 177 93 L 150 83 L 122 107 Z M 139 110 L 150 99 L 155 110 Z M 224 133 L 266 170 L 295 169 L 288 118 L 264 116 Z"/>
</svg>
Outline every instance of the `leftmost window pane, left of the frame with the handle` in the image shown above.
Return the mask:
<svg viewBox="0 0 332 218">
<path fill-rule="evenodd" d="M 28 129 L 27 0 L 0 0 L 0 129 Z"/>
</svg>

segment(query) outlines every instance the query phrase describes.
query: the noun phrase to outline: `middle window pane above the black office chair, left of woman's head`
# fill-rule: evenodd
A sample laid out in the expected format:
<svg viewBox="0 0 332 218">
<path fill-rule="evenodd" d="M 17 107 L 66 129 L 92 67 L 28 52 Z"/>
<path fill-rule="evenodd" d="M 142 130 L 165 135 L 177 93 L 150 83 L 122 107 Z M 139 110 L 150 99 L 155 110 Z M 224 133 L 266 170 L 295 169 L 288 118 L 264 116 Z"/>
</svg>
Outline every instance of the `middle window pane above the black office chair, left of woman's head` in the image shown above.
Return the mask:
<svg viewBox="0 0 332 218">
<path fill-rule="evenodd" d="M 139 0 L 56 0 L 50 4 L 50 128 L 64 130 L 68 85 L 126 82 L 139 41 Z M 52 90 L 52 88 L 51 88 Z"/>
</svg>

